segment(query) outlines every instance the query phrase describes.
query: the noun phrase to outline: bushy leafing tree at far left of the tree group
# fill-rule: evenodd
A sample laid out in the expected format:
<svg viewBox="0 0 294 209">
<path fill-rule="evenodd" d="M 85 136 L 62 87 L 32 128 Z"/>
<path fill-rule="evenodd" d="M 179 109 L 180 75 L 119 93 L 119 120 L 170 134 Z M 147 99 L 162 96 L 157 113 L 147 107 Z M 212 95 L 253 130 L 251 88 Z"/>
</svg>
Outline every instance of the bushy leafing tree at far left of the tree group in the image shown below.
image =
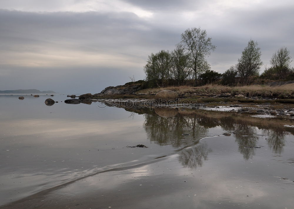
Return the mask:
<svg viewBox="0 0 294 209">
<path fill-rule="evenodd" d="M 147 81 L 154 81 L 159 87 L 163 86 L 164 80 L 170 77 L 170 71 L 171 54 L 169 51 L 161 50 L 148 56 L 147 64 L 144 66 Z"/>
</svg>

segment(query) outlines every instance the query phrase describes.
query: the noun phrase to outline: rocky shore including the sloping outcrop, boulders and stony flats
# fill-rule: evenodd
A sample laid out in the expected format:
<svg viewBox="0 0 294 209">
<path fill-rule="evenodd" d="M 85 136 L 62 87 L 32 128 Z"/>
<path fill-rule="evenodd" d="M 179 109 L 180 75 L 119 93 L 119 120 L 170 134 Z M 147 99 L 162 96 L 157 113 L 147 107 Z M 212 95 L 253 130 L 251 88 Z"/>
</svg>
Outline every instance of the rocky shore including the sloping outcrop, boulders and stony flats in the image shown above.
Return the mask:
<svg viewBox="0 0 294 209">
<path fill-rule="evenodd" d="M 271 85 L 293 85 L 293 82 L 276 82 Z M 270 87 L 270 85 L 268 85 Z M 193 89 L 193 87 L 191 87 Z M 198 87 L 197 87 L 198 88 Z M 201 87 L 199 87 L 201 88 Z M 156 108 L 156 107 L 170 107 L 178 109 L 204 109 L 212 111 L 236 112 L 238 114 L 248 113 L 256 115 L 256 117 L 294 117 L 294 91 L 275 92 L 273 91 L 267 96 L 258 96 L 257 93 L 244 93 L 241 90 L 231 90 L 230 92 L 223 91 L 216 94 L 217 91 L 207 90 L 208 87 L 203 87 L 204 90 L 198 93 L 183 93 L 180 91 L 171 91 L 177 95 L 177 99 L 172 104 L 159 104 L 155 93 L 143 93 L 141 84 L 133 85 L 119 85 L 116 87 L 109 86 L 96 94 L 83 94 L 78 96 L 78 99 L 70 99 L 66 103 L 78 104 L 91 102 L 102 102 L 108 106 L 133 108 L 138 110 L 140 108 Z M 195 88 L 194 88 L 195 89 Z M 249 96 L 248 96 L 249 95 Z M 263 94 L 260 94 L 263 95 Z M 277 96 L 278 95 L 278 96 Z M 68 97 L 75 98 L 76 95 L 69 95 Z M 161 96 L 163 97 L 163 96 Z M 166 98 L 165 98 L 166 99 Z"/>
</svg>

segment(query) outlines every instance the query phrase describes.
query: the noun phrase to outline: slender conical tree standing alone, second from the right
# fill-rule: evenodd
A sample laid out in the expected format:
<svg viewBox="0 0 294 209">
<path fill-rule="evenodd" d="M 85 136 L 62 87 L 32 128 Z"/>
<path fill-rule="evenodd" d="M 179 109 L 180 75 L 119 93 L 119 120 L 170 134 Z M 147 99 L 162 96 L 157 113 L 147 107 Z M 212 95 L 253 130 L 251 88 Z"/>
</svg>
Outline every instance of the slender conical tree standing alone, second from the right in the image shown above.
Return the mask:
<svg viewBox="0 0 294 209">
<path fill-rule="evenodd" d="M 259 74 L 260 67 L 263 64 L 260 56 L 258 43 L 250 40 L 237 64 L 238 75 L 243 79 L 243 82 L 246 82 L 248 77 Z"/>
</svg>

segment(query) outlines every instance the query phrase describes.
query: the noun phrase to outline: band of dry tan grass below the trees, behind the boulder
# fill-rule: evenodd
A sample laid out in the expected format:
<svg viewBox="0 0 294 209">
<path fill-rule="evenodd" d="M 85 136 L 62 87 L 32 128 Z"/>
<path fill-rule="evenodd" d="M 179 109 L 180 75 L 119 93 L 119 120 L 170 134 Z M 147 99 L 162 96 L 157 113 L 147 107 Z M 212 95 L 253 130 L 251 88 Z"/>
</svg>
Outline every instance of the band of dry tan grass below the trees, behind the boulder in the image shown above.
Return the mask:
<svg viewBox="0 0 294 209">
<path fill-rule="evenodd" d="M 137 94 L 156 94 L 161 90 L 172 90 L 178 94 L 200 94 L 200 95 L 218 95 L 230 93 L 231 95 L 242 94 L 247 97 L 261 96 L 261 97 L 278 97 L 287 98 L 294 96 L 294 84 L 287 84 L 282 86 L 267 86 L 267 85 L 249 85 L 228 87 L 223 85 L 204 85 L 199 87 L 191 86 L 170 86 L 163 88 L 144 89 L 136 92 Z"/>
</svg>

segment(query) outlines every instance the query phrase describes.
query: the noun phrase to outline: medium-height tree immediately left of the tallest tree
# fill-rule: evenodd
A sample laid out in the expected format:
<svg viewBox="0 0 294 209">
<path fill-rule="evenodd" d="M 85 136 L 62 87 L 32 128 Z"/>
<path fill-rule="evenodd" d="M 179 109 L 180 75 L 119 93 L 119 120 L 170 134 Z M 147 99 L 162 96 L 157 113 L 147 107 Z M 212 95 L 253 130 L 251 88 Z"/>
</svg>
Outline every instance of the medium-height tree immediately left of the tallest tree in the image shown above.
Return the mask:
<svg viewBox="0 0 294 209">
<path fill-rule="evenodd" d="M 178 82 L 178 85 L 183 84 L 184 80 L 192 74 L 189 62 L 189 54 L 184 46 L 180 43 L 171 53 L 171 75 Z"/>
</svg>

